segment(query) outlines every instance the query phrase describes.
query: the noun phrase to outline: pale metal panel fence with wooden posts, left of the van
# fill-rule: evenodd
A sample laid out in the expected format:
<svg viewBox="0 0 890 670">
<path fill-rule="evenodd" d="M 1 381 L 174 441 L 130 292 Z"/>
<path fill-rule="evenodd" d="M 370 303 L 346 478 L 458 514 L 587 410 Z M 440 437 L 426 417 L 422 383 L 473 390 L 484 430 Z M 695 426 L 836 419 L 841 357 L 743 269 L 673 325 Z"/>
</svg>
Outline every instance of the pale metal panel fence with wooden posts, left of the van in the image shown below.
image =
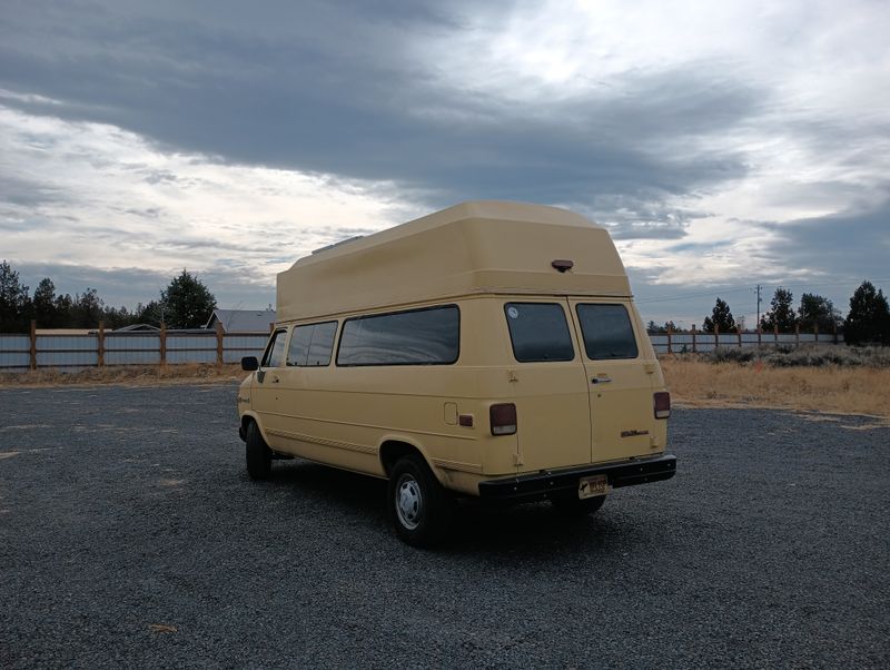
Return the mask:
<svg viewBox="0 0 890 670">
<path fill-rule="evenodd" d="M 265 333 L 157 331 L 89 334 L 0 334 L 0 373 L 38 368 L 77 371 L 106 365 L 176 365 L 238 363 L 260 356 Z"/>
</svg>

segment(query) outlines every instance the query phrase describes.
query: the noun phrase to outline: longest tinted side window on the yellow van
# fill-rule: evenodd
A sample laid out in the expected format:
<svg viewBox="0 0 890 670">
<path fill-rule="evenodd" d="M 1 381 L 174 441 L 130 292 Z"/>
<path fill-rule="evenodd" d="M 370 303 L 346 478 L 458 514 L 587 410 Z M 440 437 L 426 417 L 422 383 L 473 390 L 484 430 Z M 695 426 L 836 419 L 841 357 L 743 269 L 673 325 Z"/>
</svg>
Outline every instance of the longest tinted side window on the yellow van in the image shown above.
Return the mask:
<svg viewBox="0 0 890 670">
<path fill-rule="evenodd" d="M 461 348 L 456 305 L 349 318 L 337 365 L 449 365 Z"/>
</svg>

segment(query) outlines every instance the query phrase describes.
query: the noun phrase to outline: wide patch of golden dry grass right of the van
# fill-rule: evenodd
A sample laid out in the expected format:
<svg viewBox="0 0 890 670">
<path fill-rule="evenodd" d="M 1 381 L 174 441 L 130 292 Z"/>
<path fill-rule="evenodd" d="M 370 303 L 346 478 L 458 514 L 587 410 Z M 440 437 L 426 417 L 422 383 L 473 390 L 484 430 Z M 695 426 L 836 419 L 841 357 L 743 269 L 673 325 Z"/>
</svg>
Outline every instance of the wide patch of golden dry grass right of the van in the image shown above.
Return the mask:
<svg viewBox="0 0 890 670">
<path fill-rule="evenodd" d="M 662 370 L 678 404 L 754 406 L 890 418 L 890 368 L 772 367 L 665 357 Z"/>
</svg>

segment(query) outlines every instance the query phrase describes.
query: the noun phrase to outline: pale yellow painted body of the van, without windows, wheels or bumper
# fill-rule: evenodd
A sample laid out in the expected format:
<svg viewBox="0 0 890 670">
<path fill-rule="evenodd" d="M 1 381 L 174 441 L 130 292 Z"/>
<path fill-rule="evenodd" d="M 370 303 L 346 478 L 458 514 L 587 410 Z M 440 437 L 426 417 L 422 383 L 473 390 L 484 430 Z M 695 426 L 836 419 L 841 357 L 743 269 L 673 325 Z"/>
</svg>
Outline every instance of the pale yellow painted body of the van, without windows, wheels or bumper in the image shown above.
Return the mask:
<svg viewBox="0 0 890 670">
<path fill-rule="evenodd" d="M 560 273 L 554 259 L 571 259 Z M 517 363 L 504 315 L 508 302 L 557 303 L 575 358 Z M 587 361 L 577 303 L 625 305 L 639 357 Z M 278 452 L 385 476 L 379 450 L 419 451 L 446 486 L 478 494 L 486 477 L 560 469 L 664 450 L 666 422 L 653 417 L 664 390 L 657 359 L 631 299 L 609 233 L 553 207 L 466 203 L 301 258 L 278 276 L 278 326 L 337 319 L 327 367 L 266 368 L 239 396 Z M 338 367 L 343 321 L 454 304 L 461 354 L 453 365 Z M 592 377 L 609 376 L 604 385 Z M 259 377 L 263 376 L 263 381 Z M 492 404 L 516 404 L 516 435 L 493 436 Z M 462 426 L 457 415 L 472 415 Z M 622 437 L 622 433 L 631 433 Z"/>
</svg>

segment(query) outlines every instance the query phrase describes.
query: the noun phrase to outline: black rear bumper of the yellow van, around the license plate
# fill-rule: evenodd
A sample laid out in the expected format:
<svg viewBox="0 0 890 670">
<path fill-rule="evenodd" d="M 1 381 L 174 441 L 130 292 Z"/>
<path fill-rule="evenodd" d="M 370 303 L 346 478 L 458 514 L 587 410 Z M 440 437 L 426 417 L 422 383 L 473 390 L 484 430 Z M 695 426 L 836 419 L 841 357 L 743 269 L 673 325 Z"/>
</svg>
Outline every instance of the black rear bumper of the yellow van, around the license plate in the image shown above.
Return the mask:
<svg viewBox="0 0 890 670">
<path fill-rule="evenodd" d="M 604 474 L 613 489 L 670 480 L 676 473 L 676 456 L 663 454 L 654 459 L 640 459 L 585 465 L 571 470 L 542 471 L 533 474 L 502 477 L 479 482 L 479 497 L 484 500 L 533 500 L 555 491 L 577 489 L 578 480 L 593 474 Z"/>
</svg>

